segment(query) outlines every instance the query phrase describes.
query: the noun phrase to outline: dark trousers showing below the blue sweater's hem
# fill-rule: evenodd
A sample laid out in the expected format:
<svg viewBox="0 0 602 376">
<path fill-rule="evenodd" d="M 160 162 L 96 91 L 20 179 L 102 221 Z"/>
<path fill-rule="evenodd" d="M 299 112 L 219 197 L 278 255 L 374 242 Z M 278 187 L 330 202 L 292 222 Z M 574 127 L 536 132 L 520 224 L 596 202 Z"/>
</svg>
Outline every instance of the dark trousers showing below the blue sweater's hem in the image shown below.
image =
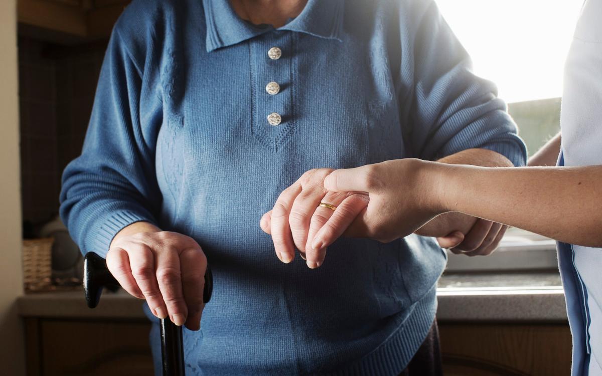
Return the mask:
<svg viewBox="0 0 602 376">
<path fill-rule="evenodd" d="M 437 320 L 433 321 L 429 334 L 408 367 L 399 376 L 442 376 L 441 348 L 439 346 L 439 329 Z"/>
</svg>

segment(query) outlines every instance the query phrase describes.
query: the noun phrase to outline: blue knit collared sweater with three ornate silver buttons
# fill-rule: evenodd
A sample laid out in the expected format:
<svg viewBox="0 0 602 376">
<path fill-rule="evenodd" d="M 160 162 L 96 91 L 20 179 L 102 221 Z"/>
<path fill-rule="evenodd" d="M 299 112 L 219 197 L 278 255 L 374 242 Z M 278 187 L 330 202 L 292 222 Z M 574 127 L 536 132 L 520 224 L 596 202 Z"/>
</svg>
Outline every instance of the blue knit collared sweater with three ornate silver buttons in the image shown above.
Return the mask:
<svg viewBox="0 0 602 376">
<path fill-rule="evenodd" d="M 201 330 L 184 331 L 190 375 L 393 375 L 435 316 L 434 239 L 340 239 L 310 270 L 279 262 L 261 215 L 315 167 L 472 147 L 521 165 L 516 132 L 432 0 L 309 0 L 279 29 L 227 0 L 134 0 L 64 171 L 61 216 L 84 252 L 106 254 L 135 221 L 199 242 L 215 289 Z"/>
</svg>

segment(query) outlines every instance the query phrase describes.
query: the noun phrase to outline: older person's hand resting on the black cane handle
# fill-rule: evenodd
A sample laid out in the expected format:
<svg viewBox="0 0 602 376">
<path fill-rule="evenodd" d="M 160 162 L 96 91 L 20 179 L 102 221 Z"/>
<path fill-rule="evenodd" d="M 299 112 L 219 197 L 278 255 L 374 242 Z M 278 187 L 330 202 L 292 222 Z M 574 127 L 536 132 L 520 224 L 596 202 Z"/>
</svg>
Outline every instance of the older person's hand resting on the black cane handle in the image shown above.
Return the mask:
<svg viewBox="0 0 602 376">
<path fill-rule="evenodd" d="M 107 253 L 107 267 L 117 282 L 146 299 L 158 318 L 200 328 L 207 259 L 194 239 L 137 222 L 121 230 Z"/>
</svg>

